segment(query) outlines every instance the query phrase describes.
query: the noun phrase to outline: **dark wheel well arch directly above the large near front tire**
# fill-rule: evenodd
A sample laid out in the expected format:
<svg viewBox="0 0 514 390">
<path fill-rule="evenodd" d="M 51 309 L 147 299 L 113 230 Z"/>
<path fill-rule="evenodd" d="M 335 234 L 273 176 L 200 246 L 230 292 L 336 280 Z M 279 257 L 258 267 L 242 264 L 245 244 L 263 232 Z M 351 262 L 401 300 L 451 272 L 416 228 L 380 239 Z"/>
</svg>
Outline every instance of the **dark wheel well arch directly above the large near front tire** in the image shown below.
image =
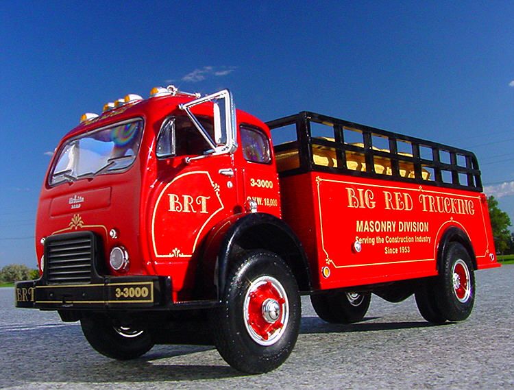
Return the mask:
<svg viewBox="0 0 514 390">
<path fill-rule="evenodd" d="M 237 237 L 234 244 L 230 259 L 243 250 L 267 249 L 280 256 L 291 268 L 300 291 L 310 290 L 310 272 L 302 248 L 280 226 L 271 223 L 251 226 Z"/>
</svg>

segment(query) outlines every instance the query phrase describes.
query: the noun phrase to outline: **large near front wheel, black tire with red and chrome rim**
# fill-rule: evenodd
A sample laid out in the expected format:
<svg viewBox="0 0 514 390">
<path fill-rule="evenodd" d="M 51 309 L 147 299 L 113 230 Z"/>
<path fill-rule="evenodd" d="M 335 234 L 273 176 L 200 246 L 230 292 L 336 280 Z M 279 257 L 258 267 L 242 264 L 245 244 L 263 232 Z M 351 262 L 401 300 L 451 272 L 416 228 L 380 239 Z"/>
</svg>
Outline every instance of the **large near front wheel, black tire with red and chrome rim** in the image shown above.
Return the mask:
<svg viewBox="0 0 514 390">
<path fill-rule="evenodd" d="M 239 371 L 271 371 L 291 354 L 301 317 L 291 269 L 271 252 L 246 252 L 232 264 L 221 306 L 212 312 L 216 348 Z"/>
</svg>

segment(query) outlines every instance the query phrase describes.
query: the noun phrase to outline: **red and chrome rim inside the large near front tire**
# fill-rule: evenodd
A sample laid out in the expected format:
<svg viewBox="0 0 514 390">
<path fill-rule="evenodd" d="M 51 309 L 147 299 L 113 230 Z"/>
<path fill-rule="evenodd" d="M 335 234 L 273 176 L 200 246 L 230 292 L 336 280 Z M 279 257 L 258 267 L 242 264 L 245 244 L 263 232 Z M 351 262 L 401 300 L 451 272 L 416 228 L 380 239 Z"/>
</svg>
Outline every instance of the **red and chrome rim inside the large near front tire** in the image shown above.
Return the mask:
<svg viewBox="0 0 514 390">
<path fill-rule="evenodd" d="M 243 320 L 252 340 L 260 345 L 276 343 L 286 329 L 289 303 L 282 284 L 260 276 L 250 284 L 243 303 Z"/>
</svg>

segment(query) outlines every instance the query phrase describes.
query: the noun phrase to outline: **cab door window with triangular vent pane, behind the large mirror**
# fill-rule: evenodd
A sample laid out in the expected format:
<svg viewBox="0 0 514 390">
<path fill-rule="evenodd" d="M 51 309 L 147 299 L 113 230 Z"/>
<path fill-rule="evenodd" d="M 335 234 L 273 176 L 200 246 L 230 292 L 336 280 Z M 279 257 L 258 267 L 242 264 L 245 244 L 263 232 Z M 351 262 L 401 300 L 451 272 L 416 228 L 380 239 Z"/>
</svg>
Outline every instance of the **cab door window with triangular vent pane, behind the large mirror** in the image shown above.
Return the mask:
<svg viewBox="0 0 514 390">
<path fill-rule="evenodd" d="M 214 122 L 209 117 L 199 117 L 204 129 L 214 137 Z M 157 156 L 197 156 L 210 149 L 209 144 L 198 132 L 188 117 L 178 116 L 166 119 L 157 140 Z"/>
</svg>

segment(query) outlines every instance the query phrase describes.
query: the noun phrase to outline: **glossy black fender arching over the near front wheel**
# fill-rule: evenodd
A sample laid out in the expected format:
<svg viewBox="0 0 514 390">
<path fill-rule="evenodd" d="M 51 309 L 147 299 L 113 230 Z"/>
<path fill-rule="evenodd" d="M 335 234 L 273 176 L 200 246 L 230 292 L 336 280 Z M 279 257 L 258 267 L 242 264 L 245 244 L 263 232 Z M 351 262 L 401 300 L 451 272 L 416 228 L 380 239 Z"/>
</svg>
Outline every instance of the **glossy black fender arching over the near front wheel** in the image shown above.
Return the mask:
<svg viewBox="0 0 514 390">
<path fill-rule="evenodd" d="M 310 268 L 302 243 L 289 226 L 273 215 L 254 212 L 232 215 L 209 233 L 199 263 L 202 298 L 223 296 L 230 261 L 249 249 L 267 249 L 291 268 L 300 291 L 310 291 Z"/>
</svg>

